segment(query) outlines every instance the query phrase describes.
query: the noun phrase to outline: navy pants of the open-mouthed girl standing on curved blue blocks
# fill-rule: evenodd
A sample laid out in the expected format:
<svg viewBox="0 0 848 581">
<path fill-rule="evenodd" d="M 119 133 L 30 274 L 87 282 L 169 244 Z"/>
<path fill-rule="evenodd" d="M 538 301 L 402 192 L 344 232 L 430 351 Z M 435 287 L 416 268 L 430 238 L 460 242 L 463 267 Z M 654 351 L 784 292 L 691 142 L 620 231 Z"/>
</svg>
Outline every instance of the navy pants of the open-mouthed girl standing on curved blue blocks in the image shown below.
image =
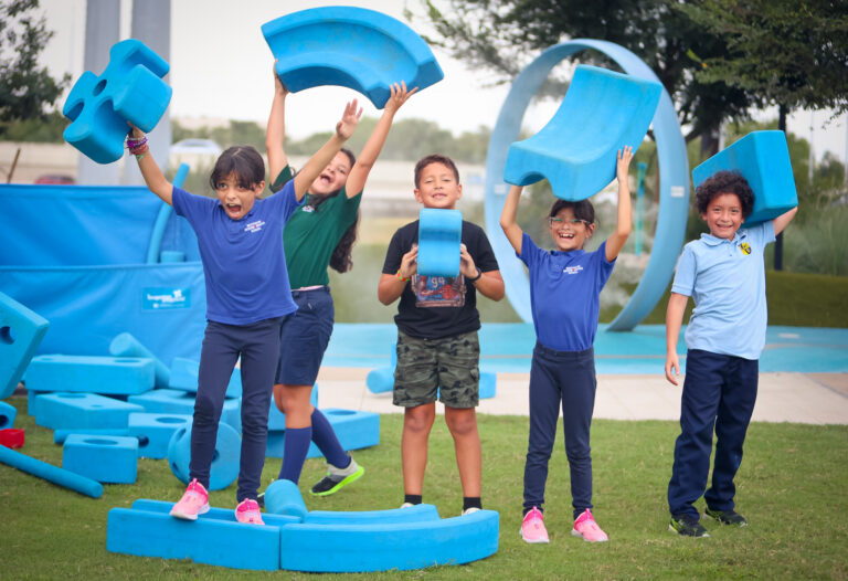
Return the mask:
<svg viewBox="0 0 848 581">
<path fill-rule="evenodd" d="M 209 489 L 209 472 L 215 454 L 218 424 L 224 393 L 239 356 L 242 357 L 242 454 L 236 499 L 256 498 L 265 445 L 274 374 L 279 358 L 283 317 L 252 325 L 208 321 L 200 353 L 198 397 L 191 426 L 189 477 Z"/>
</svg>

